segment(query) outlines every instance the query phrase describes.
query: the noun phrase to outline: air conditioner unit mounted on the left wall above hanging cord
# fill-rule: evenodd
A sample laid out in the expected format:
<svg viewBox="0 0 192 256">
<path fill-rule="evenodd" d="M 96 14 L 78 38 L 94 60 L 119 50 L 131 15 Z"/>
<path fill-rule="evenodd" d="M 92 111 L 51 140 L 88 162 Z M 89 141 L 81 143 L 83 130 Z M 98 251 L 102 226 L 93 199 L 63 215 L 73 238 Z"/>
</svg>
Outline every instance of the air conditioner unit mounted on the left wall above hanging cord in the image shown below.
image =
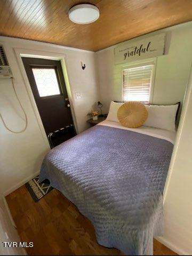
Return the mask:
<svg viewBox="0 0 192 256">
<path fill-rule="evenodd" d="M 1 78 L 11 78 L 13 74 L 11 68 L 7 61 L 3 45 L 0 45 L 0 79 Z"/>
</svg>

